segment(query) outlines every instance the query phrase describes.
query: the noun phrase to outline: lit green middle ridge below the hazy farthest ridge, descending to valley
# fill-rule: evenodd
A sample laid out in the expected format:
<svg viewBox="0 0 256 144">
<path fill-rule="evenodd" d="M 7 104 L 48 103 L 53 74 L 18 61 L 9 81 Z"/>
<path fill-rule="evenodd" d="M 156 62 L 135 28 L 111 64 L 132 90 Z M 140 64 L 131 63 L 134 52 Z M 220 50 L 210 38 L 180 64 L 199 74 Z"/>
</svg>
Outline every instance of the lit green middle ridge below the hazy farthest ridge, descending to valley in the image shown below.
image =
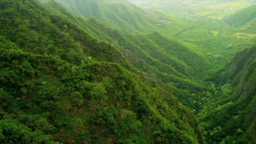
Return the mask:
<svg viewBox="0 0 256 144">
<path fill-rule="evenodd" d="M 166 71 L 167 68 L 162 69 L 163 72 L 179 77 L 191 77 L 201 74 L 198 72 L 202 72 L 206 69 L 205 65 L 209 64 L 208 59 L 203 54 L 192 51 L 190 48 L 175 40 L 163 37 L 157 32 L 148 35 L 141 33 L 133 35 L 109 27 L 106 23 L 102 23 L 95 18 L 91 18 L 86 22 L 89 25 L 89 27 L 85 26 L 86 29 L 91 29 L 91 32 L 97 37 L 110 41 L 112 45 L 116 45 L 121 51 L 126 49 L 152 66 L 159 67 L 155 64 L 158 63 L 170 69 L 168 71 Z M 190 56 L 194 57 L 194 59 L 190 59 Z M 128 60 L 133 64 L 138 62 L 134 61 L 134 59 Z M 201 64 L 196 65 L 198 63 Z M 139 64 L 138 68 L 147 71 L 147 69 L 143 69 L 143 65 Z"/>
</svg>

